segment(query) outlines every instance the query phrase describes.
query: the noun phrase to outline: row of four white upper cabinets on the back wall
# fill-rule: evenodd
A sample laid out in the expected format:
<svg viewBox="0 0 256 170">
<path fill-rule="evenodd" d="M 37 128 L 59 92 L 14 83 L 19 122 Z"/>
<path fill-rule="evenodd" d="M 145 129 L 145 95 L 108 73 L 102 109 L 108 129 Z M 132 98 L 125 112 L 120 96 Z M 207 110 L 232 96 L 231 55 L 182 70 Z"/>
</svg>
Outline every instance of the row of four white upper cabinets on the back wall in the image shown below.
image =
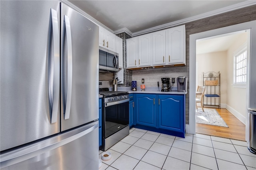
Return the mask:
<svg viewBox="0 0 256 170">
<path fill-rule="evenodd" d="M 186 65 L 185 25 L 126 40 L 127 68 Z"/>
</svg>

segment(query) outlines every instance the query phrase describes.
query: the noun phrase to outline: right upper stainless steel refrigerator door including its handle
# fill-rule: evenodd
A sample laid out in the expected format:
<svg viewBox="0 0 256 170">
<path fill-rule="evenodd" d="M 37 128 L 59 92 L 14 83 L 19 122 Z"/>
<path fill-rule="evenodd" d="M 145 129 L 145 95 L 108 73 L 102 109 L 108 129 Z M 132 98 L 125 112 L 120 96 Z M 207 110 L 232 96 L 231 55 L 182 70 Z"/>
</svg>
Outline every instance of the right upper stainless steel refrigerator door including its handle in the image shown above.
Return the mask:
<svg viewBox="0 0 256 170">
<path fill-rule="evenodd" d="M 61 3 L 61 130 L 98 119 L 99 28 Z"/>
</svg>

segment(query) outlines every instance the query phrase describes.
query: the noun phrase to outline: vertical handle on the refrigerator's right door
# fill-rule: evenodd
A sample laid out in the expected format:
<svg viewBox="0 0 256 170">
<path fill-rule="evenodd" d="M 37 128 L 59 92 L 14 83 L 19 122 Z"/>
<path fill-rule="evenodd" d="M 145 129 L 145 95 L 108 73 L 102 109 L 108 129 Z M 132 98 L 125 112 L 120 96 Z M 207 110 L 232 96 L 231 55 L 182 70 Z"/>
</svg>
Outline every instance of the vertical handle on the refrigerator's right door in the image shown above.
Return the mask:
<svg viewBox="0 0 256 170">
<path fill-rule="evenodd" d="M 64 15 L 62 38 L 62 96 L 64 119 L 69 119 L 72 92 L 72 40 L 69 17 Z"/>
</svg>

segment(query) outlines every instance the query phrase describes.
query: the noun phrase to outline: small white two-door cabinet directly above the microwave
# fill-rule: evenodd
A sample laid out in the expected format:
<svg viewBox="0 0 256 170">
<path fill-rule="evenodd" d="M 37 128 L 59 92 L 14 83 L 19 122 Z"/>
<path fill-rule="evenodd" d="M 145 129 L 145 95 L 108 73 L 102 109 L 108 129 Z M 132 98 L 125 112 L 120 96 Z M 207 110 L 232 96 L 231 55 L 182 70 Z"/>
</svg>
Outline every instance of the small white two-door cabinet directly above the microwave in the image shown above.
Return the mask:
<svg viewBox="0 0 256 170">
<path fill-rule="evenodd" d="M 116 52 L 116 35 L 101 26 L 99 32 L 99 46 Z"/>
</svg>

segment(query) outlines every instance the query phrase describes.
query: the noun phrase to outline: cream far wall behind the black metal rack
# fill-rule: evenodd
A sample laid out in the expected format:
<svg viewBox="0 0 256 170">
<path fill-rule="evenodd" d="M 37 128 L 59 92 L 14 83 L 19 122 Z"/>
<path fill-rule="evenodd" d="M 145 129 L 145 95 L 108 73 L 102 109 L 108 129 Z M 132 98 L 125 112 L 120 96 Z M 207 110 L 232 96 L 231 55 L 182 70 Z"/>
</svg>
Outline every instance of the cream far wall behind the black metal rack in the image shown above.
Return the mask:
<svg viewBox="0 0 256 170">
<path fill-rule="evenodd" d="M 203 85 L 203 72 L 220 71 L 220 93 L 221 104 L 226 104 L 227 99 L 227 70 L 226 70 L 227 51 L 219 51 L 213 53 L 196 54 L 196 61 L 198 62 L 198 85 Z M 206 98 L 204 99 L 206 101 Z"/>
</svg>

